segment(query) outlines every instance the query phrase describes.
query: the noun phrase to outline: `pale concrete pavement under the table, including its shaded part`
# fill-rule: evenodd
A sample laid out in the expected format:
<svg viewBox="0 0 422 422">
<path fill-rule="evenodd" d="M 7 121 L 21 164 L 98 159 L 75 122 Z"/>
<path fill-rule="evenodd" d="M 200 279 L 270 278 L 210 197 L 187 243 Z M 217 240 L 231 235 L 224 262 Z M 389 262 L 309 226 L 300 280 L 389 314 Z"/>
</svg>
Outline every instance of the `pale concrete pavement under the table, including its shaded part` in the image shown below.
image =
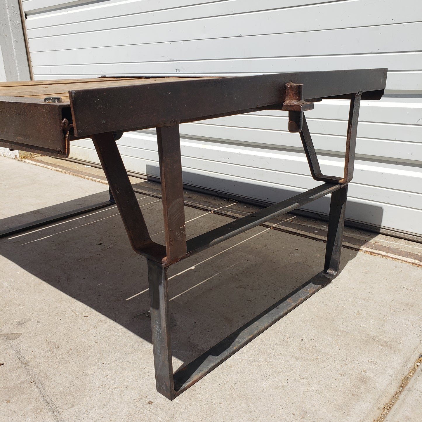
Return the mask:
<svg viewBox="0 0 422 422">
<path fill-rule="evenodd" d="M 0 175 L 8 225 L 107 197 L 103 184 L 8 158 Z M 138 199 L 163 241 L 161 201 Z M 188 237 L 230 221 L 194 208 L 186 219 Z M 324 249 L 256 227 L 170 267 L 174 368 L 317 273 Z M 170 402 L 155 391 L 146 262 L 115 207 L 0 239 L 0 419 L 372 421 L 422 353 L 422 269 L 349 249 L 342 267 Z M 388 420 L 420 421 L 412 409 Z"/>
</svg>

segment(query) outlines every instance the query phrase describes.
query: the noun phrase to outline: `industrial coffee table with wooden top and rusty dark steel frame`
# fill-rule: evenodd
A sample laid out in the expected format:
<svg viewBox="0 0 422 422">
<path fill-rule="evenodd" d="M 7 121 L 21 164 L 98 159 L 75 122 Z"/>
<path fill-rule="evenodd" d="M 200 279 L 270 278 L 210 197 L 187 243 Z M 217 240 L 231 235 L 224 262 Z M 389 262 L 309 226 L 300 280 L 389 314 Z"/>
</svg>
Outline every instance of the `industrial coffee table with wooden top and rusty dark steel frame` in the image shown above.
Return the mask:
<svg viewBox="0 0 422 422">
<path fill-rule="evenodd" d="M 111 192 L 106 203 L 3 230 L 0 236 L 115 201 L 133 249 L 148 262 L 157 391 L 172 400 L 338 275 L 360 100 L 379 100 L 386 78 L 387 69 L 365 69 L 237 77 L 107 77 L 0 83 L 0 146 L 67 157 L 70 141 L 92 138 Z M 342 177 L 322 174 L 303 114 L 323 98 L 350 100 Z M 288 129 L 299 133 L 312 177 L 324 183 L 186 239 L 179 124 L 268 109 L 289 112 Z M 157 128 L 165 245 L 151 240 L 116 146 L 123 132 L 153 127 Z M 328 194 L 331 203 L 324 269 L 173 374 L 169 265 Z"/>
</svg>

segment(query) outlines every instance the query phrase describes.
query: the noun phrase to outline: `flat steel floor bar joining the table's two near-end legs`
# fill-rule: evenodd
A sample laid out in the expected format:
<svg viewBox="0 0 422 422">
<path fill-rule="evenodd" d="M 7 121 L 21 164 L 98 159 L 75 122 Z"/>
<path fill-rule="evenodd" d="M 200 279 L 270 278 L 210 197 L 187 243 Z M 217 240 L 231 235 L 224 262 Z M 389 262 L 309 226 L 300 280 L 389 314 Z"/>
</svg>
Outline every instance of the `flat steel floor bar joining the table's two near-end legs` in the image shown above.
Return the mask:
<svg viewBox="0 0 422 422">
<path fill-rule="evenodd" d="M 337 273 L 321 271 L 310 280 L 303 283 L 281 300 L 247 322 L 238 330 L 228 335 L 211 349 L 201 354 L 192 362 L 174 373 L 174 391 L 176 396 L 187 390 L 201 378 L 213 371 L 243 346 L 267 330 L 290 311 L 310 298 L 318 290 L 325 287 Z"/>
</svg>

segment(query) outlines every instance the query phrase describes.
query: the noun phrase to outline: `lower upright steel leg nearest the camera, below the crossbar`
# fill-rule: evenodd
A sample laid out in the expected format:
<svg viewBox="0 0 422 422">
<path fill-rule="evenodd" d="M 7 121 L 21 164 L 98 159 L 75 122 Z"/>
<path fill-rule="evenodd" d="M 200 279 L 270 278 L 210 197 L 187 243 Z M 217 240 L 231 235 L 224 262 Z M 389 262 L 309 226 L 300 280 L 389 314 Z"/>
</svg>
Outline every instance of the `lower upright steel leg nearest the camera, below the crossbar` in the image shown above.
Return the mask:
<svg viewBox="0 0 422 422">
<path fill-rule="evenodd" d="M 167 267 L 147 260 L 151 309 L 152 348 L 157 391 L 170 400 L 175 397 L 168 315 Z"/>
</svg>

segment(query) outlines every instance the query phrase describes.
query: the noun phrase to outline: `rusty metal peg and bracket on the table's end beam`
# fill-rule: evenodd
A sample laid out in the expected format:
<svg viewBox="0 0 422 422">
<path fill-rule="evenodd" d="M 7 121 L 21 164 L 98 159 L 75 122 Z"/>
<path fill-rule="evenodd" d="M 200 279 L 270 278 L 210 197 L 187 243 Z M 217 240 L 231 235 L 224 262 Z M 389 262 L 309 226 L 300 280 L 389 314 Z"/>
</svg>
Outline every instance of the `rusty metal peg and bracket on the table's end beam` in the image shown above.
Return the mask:
<svg viewBox="0 0 422 422">
<path fill-rule="evenodd" d="M 303 84 L 288 82 L 281 110 L 289 112 L 289 132 L 300 132 L 303 125 L 303 112 L 313 109 L 314 103 L 307 103 L 303 100 Z"/>
</svg>

